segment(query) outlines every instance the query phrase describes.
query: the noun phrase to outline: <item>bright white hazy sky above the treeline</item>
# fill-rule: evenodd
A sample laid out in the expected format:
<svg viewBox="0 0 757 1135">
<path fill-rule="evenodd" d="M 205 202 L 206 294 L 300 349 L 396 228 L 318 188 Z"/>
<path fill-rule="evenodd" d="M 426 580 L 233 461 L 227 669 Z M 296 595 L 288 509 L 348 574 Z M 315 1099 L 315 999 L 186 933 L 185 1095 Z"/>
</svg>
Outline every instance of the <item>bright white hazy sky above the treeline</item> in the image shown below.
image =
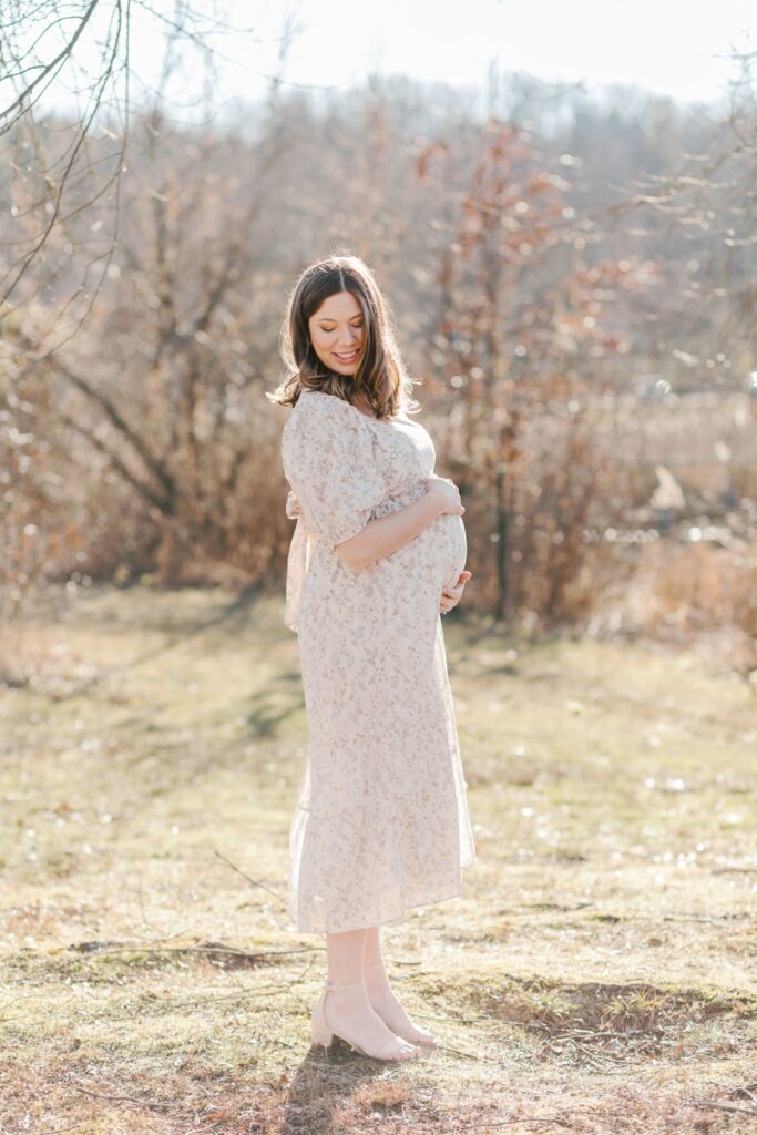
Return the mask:
<svg viewBox="0 0 757 1135">
<path fill-rule="evenodd" d="M 208 14 L 201 37 L 226 57 L 213 103 L 256 99 L 277 69 L 278 37 L 287 20 L 293 40 L 285 77 L 293 84 L 350 86 L 370 72 L 482 85 L 493 61 L 550 83 L 637 83 L 681 100 L 715 100 L 735 77 L 730 49 L 757 49 L 757 0 L 192 0 Z M 153 0 L 167 15 L 173 0 Z M 100 24 L 82 40 L 78 61 L 96 58 Z M 132 61 L 137 79 L 159 73 L 160 26 L 134 9 Z M 213 31 L 213 14 L 239 31 Z M 244 31 L 243 31 L 244 30 Z M 195 68 L 196 69 L 196 68 Z M 84 75 L 79 75 L 79 81 Z M 138 100 L 140 82 L 132 87 Z M 185 72 L 180 90 L 194 86 Z M 69 89 L 76 86 L 70 76 Z M 81 82 L 83 86 L 83 82 Z M 60 101 L 66 101 L 62 90 Z"/>
</svg>

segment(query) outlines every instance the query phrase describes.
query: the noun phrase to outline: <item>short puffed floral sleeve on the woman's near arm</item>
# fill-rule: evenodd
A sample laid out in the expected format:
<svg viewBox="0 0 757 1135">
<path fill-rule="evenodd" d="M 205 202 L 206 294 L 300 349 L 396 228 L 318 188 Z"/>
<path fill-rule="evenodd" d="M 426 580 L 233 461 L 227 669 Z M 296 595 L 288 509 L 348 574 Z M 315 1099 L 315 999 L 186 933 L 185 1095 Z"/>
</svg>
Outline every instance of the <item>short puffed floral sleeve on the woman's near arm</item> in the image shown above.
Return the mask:
<svg viewBox="0 0 757 1135">
<path fill-rule="evenodd" d="M 303 394 L 281 436 L 284 474 L 301 519 L 331 546 L 362 531 L 387 496 L 370 430 L 329 394 Z"/>
</svg>

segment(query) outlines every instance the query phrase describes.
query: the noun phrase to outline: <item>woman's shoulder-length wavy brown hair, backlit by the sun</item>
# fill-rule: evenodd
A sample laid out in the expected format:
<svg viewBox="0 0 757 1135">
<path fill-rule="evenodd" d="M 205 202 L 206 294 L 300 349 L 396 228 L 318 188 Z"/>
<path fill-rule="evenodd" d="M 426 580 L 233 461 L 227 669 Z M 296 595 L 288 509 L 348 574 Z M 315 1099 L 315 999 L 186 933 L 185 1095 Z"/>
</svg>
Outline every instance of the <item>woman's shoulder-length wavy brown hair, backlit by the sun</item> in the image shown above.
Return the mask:
<svg viewBox="0 0 757 1135">
<path fill-rule="evenodd" d="M 316 354 L 309 319 L 329 295 L 351 292 L 363 312 L 364 350 L 354 376 L 339 375 Z M 322 390 L 352 404 L 355 395 L 377 418 L 420 410 L 399 354 L 392 314 L 373 274 L 359 257 L 331 255 L 310 264 L 295 284 L 281 327 L 281 358 L 288 376 L 267 397 L 294 406 L 303 390 Z"/>
</svg>

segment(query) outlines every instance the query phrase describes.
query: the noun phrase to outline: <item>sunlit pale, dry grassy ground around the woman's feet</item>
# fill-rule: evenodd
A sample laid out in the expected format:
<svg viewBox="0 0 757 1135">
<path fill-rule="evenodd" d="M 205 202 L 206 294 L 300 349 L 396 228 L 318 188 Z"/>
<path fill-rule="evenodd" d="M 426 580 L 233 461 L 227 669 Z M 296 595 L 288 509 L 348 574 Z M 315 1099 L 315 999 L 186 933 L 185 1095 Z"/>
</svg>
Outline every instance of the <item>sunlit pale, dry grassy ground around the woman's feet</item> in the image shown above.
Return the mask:
<svg viewBox="0 0 757 1135">
<path fill-rule="evenodd" d="M 310 1049 L 325 943 L 284 909 L 306 729 L 280 600 L 49 602 L 0 697 L 0 1130 L 757 1132 L 743 682 L 445 620 L 479 861 L 384 930 L 441 1037 L 394 1067 Z"/>
</svg>

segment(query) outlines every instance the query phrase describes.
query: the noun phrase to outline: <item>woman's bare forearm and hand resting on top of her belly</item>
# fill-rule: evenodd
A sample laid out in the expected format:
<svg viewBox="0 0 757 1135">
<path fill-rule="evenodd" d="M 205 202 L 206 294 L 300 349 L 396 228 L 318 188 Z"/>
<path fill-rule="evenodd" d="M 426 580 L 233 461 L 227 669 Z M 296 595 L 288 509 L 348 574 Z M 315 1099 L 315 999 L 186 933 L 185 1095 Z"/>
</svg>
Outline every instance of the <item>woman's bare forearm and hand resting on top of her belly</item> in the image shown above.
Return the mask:
<svg viewBox="0 0 757 1135">
<path fill-rule="evenodd" d="M 432 478 L 424 496 L 386 516 L 369 520 L 356 536 L 337 544 L 334 550 L 348 568 L 362 571 L 409 544 L 437 516 L 464 511 L 457 487 L 444 478 Z"/>
</svg>

